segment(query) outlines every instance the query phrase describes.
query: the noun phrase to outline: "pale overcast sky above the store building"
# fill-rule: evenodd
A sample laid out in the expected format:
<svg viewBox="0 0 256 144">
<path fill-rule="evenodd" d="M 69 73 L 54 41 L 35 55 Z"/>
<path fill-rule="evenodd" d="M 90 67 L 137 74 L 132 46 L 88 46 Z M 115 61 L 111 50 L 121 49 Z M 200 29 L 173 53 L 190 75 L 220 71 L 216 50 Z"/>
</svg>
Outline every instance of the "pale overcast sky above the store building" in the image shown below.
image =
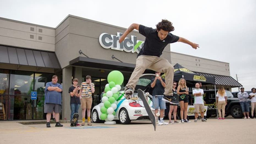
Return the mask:
<svg viewBox="0 0 256 144">
<path fill-rule="evenodd" d="M 132 23 L 155 28 L 171 21 L 174 35 L 200 45 L 197 50 L 174 43 L 171 51 L 230 63 L 230 75 L 256 87 L 255 0 L 1 0 L 0 17 L 56 27 L 68 15 L 128 28 Z M 236 88 L 238 90 L 238 88 Z"/>
</svg>

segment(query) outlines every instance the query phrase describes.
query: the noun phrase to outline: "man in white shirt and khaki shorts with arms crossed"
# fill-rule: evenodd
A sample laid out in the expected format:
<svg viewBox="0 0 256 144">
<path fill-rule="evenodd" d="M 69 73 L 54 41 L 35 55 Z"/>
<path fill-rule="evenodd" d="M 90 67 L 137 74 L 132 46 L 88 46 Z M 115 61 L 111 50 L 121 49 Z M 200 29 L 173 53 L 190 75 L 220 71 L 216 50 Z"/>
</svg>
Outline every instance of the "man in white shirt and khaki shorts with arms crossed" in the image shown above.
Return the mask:
<svg viewBox="0 0 256 144">
<path fill-rule="evenodd" d="M 200 88 L 199 83 L 196 83 L 196 89 L 193 90 L 193 95 L 194 95 L 194 113 L 195 113 L 195 120 L 194 122 L 197 122 L 197 117 L 200 109 L 200 115 L 202 118 L 202 121 L 206 121 L 205 118 L 203 117 L 204 115 L 204 101 L 203 101 L 203 90 Z"/>
</svg>

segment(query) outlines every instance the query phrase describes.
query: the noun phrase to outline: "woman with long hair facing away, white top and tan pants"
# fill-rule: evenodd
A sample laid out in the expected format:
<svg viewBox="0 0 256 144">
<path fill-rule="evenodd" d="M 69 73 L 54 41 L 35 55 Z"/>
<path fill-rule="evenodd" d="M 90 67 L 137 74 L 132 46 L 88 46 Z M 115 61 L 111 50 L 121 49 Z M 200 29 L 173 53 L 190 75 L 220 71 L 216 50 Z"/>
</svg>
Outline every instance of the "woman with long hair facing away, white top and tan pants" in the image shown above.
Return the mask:
<svg viewBox="0 0 256 144">
<path fill-rule="evenodd" d="M 224 120 L 225 106 L 227 105 L 227 94 L 225 93 L 223 86 L 220 86 L 217 92 L 216 104 L 218 106 L 218 113 L 219 113 L 218 120 Z M 221 117 L 221 110 L 222 110 L 222 117 Z"/>
</svg>

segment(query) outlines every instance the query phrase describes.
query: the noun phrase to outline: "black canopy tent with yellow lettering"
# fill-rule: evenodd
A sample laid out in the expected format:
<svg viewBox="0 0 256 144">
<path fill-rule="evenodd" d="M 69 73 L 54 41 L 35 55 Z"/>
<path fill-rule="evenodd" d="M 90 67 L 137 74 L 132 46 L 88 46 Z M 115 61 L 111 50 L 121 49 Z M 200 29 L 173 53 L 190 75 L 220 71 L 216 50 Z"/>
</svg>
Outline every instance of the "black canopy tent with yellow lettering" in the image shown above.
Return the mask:
<svg viewBox="0 0 256 144">
<path fill-rule="evenodd" d="M 215 77 L 196 74 L 176 63 L 174 65 L 174 81 L 179 82 L 181 78 L 186 80 L 188 87 L 194 87 L 197 82 L 201 82 L 202 85 L 215 85 Z"/>
</svg>

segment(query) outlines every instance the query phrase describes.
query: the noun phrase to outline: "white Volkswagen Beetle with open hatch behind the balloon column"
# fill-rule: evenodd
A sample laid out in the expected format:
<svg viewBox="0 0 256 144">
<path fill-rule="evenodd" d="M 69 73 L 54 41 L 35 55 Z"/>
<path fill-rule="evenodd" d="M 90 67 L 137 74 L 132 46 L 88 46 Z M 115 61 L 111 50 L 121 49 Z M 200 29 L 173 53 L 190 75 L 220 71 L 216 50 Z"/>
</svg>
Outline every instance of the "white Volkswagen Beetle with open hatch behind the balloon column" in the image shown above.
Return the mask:
<svg viewBox="0 0 256 144">
<path fill-rule="evenodd" d="M 137 96 L 137 89 L 141 89 L 144 92 L 148 92 L 152 90 L 150 88 L 151 79 L 155 78 L 155 74 L 142 74 L 137 82 L 134 91 L 134 97 L 137 100 L 125 99 L 124 92 L 120 91 L 119 98 L 117 99 L 117 108 L 115 109 L 114 120 L 119 120 L 121 124 L 129 124 L 131 120 L 142 120 L 142 119 L 149 119 L 148 114 L 144 108 L 143 102 Z M 152 95 L 148 95 L 148 104 L 152 109 Z M 96 105 L 92 109 L 92 121 L 93 123 L 101 122 L 99 115 L 100 107 L 103 105 L 101 102 L 100 104 Z M 152 109 L 153 111 L 155 109 Z"/>
</svg>

